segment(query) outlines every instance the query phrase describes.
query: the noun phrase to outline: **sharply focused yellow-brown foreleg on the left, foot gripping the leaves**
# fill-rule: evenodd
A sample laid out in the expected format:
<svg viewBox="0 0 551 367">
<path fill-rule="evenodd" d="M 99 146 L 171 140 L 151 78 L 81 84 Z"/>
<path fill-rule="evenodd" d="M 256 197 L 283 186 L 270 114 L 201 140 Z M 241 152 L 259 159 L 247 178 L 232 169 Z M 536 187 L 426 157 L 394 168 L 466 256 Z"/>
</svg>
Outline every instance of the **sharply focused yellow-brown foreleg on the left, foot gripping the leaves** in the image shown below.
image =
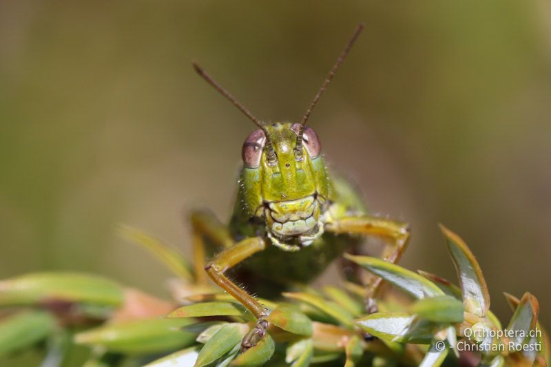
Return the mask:
<svg viewBox="0 0 551 367">
<path fill-rule="evenodd" d="M 260 304 L 253 296 L 249 295 L 247 291 L 241 289 L 235 283 L 231 282 L 228 277 L 224 274 L 227 269 L 231 268 L 249 258 L 249 256 L 262 251 L 266 248 L 266 243 L 260 237 L 246 238 L 242 240 L 233 247 L 225 249 L 221 253 L 218 253 L 216 257 L 211 260 L 205 270 L 213 282 L 218 284 L 220 288 L 224 289 L 238 300 L 243 306 L 247 307 L 251 313 L 256 317 L 257 322 L 254 328 L 249 331 L 245 338 L 243 338 L 241 343 L 242 350 L 247 350 L 251 346 L 256 345 L 256 343 L 264 337 L 266 334 L 266 329 L 268 328 L 268 312 L 267 309 Z"/>
</svg>

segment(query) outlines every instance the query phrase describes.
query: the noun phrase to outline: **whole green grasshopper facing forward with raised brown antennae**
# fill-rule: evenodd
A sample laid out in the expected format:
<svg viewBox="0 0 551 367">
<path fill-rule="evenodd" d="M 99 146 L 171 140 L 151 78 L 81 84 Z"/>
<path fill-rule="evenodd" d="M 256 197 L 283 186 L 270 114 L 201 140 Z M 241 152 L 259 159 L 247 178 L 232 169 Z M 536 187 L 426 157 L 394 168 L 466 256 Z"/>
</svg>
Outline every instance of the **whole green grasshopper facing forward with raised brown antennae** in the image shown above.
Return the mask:
<svg viewBox="0 0 551 367">
<path fill-rule="evenodd" d="M 399 260 L 408 242 L 406 223 L 370 216 L 353 186 L 329 175 L 320 140 L 306 126 L 313 107 L 363 28 L 363 24 L 358 26 L 300 123 L 263 123 L 194 63 L 205 81 L 258 126 L 242 147 L 240 187 L 229 227 L 210 213 L 191 214 L 198 281 L 205 284 L 208 275 L 257 319 L 242 341 L 243 349 L 265 335 L 268 311 L 229 279 L 225 273 L 232 266 L 241 263 L 236 278 L 247 279 L 249 289 L 262 295 L 262 290 L 279 292 L 311 281 L 344 251 L 357 248 L 360 235 L 386 238 L 382 258 L 389 262 Z M 206 241 L 222 247 L 207 264 Z M 364 280 L 367 311 L 375 312 L 373 297 L 381 280 L 373 276 Z"/>
</svg>

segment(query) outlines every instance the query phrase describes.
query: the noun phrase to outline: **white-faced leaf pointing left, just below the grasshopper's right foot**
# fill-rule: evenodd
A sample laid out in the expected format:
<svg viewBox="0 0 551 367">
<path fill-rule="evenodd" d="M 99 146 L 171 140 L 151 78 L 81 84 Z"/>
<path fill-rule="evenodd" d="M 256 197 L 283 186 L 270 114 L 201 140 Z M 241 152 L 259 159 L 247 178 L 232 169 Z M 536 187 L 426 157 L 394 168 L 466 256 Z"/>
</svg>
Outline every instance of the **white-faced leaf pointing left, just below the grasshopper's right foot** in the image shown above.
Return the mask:
<svg viewBox="0 0 551 367">
<path fill-rule="evenodd" d="M 356 324 L 380 339 L 392 342 L 429 344 L 435 324 L 408 313 L 373 313 L 356 320 Z"/>
</svg>

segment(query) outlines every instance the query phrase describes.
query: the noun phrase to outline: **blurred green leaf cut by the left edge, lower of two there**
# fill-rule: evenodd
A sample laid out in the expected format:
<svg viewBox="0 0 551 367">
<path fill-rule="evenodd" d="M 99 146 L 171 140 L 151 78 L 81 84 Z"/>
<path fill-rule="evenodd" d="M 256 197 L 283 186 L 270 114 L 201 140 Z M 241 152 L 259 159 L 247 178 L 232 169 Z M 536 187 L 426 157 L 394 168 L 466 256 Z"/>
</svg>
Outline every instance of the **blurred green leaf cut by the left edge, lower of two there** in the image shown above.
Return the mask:
<svg viewBox="0 0 551 367">
<path fill-rule="evenodd" d="M 25 311 L 0 321 L 0 355 L 28 348 L 56 328 L 56 320 L 45 311 Z"/>
</svg>

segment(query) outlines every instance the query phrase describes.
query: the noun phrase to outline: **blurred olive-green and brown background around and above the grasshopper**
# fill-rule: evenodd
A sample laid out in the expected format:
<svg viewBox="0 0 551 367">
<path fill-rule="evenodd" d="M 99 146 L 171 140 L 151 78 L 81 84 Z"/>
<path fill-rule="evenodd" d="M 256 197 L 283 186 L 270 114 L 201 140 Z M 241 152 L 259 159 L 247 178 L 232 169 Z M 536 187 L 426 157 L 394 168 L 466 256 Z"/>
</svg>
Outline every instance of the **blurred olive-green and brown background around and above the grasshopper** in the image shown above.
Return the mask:
<svg viewBox="0 0 551 367">
<path fill-rule="evenodd" d="M 331 167 L 407 220 L 403 264 L 455 279 L 437 223 L 477 255 L 492 308 L 530 291 L 548 314 L 548 1 L 1 1 L 0 277 L 103 273 L 165 293 L 131 224 L 189 253 L 185 213 L 228 218 L 253 114 L 311 117 Z M 547 283 L 547 284 L 546 284 Z"/>
</svg>

